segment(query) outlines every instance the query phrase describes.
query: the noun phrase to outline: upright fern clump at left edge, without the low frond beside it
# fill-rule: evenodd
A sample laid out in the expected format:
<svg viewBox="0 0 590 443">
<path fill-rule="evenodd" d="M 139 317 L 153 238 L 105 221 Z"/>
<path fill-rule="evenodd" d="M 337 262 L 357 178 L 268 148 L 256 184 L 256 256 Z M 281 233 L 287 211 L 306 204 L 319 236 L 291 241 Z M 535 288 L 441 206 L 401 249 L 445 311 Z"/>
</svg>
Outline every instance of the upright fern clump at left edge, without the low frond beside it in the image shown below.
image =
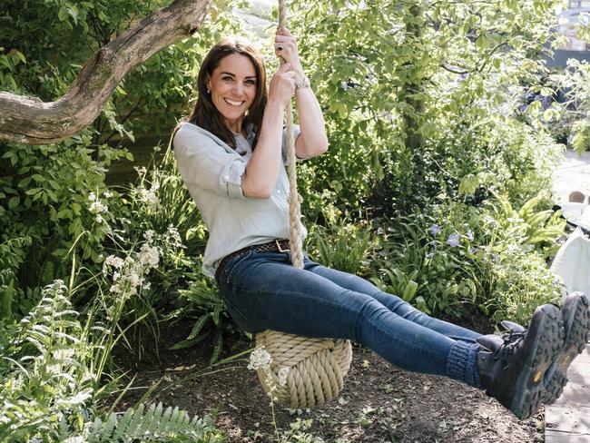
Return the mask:
<svg viewBox="0 0 590 443">
<path fill-rule="evenodd" d="M 0 441 L 63 441 L 84 428 L 96 379 L 83 361 L 92 349 L 64 290 L 56 281 L 23 320 L 0 328 Z"/>
</svg>

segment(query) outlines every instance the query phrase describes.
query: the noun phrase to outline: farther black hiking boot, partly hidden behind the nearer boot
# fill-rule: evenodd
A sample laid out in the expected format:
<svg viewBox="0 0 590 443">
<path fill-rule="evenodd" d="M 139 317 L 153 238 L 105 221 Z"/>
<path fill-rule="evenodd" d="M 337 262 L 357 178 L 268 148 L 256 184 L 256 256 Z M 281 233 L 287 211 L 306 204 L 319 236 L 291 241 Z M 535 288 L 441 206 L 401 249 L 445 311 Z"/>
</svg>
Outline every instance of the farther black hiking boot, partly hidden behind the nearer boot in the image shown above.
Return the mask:
<svg viewBox="0 0 590 443">
<path fill-rule="evenodd" d="M 567 369 L 584 349 L 590 335 L 590 302 L 582 292 L 572 292 L 565 297 L 561 308 L 561 320 L 565 327 L 564 347 L 561 354 L 546 370 L 546 395 L 543 403 L 551 405 L 559 399 L 567 384 Z M 504 336 L 486 336 L 486 348 L 496 350 L 504 340 L 514 341 L 526 333 L 526 329 L 511 321 L 502 321 Z M 482 345 L 483 346 L 483 345 Z"/>
</svg>

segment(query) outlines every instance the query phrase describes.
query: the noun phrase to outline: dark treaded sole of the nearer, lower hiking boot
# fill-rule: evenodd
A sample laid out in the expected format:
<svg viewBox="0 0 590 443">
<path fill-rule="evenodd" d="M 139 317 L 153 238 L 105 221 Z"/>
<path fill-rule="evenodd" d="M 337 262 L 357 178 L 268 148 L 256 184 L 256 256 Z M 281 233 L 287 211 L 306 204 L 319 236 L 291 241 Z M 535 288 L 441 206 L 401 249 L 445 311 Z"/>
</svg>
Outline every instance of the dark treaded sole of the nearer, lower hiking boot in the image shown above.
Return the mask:
<svg viewBox="0 0 590 443">
<path fill-rule="evenodd" d="M 564 349 L 565 329 L 560 321 L 560 311 L 553 305 L 543 305 L 538 310 L 543 312 L 541 324 L 535 344 L 516 380 L 510 405 L 512 413 L 520 419 L 529 418 L 543 404 L 546 399 L 545 373 Z"/>
</svg>

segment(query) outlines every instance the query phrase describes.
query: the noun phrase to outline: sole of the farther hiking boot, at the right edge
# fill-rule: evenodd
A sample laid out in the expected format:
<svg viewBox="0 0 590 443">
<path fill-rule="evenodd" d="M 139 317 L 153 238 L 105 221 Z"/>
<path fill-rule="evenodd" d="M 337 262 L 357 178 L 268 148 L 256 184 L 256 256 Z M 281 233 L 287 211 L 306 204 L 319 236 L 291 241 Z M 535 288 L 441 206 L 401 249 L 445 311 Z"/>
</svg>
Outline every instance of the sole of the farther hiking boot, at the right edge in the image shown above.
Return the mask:
<svg viewBox="0 0 590 443">
<path fill-rule="evenodd" d="M 565 325 L 564 350 L 548 371 L 551 375 L 544 400 L 547 405 L 555 403 L 563 393 L 567 384 L 567 369 L 575 357 L 584 351 L 588 341 L 590 302 L 585 294 L 574 292 L 568 296 L 561 310 L 561 318 Z"/>
</svg>

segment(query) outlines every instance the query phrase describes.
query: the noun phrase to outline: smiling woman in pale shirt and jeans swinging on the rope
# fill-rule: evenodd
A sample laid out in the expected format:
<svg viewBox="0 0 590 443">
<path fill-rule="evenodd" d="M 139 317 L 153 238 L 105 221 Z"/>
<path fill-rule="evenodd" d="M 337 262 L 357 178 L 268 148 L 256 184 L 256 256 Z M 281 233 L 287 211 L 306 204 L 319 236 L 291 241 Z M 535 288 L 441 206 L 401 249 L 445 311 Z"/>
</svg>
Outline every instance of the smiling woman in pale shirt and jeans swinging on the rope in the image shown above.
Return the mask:
<svg viewBox="0 0 590 443">
<path fill-rule="evenodd" d="M 286 63 L 267 94 L 261 55 L 251 44 L 229 38 L 213 46 L 198 76 L 194 111 L 173 139 L 182 179 L 209 231 L 202 271 L 214 277 L 231 317 L 251 332 L 359 341 L 399 368 L 487 389 L 518 418 L 555 401 L 590 329 L 584 295 L 570 296 L 561 311 L 537 308 L 528 330 L 505 323 L 509 333 L 501 339 L 430 318 L 307 256 L 303 270 L 291 266 L 283 240 L 289 187 L 282 117 L 293 94 L 299 159 L 325 153 L 328 141 L 295 38 L 285 28 L 275 36 L 275 54 Z"/>
</svg>

